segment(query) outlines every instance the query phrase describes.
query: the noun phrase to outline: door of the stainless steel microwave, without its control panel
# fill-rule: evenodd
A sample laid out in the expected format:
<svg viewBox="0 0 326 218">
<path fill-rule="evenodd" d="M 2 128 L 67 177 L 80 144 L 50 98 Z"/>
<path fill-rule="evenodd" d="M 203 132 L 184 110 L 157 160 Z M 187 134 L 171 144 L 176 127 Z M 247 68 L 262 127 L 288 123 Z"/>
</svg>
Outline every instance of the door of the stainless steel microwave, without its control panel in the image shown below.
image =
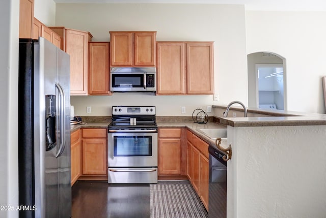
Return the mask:
<svg viewBox="0 0 326 218">
<path fill-rule="evenodd" d="M 111 73 L 111 91 L 146 91 L 146 73 Z"/>
</svg>

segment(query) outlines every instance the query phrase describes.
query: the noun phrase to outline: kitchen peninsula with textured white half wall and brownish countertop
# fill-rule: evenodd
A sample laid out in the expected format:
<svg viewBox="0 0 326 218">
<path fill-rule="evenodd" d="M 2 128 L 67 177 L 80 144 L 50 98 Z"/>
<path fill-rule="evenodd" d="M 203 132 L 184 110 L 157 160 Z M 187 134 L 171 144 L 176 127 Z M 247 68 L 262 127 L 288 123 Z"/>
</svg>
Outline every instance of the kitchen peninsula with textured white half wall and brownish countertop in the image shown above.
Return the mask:
<svg viewBox="0 0 326 218">
<path fill-rule="evenodd" d="M 219 115 L 226 107 L 213 108 Z M 220 118 L 233 153 L 227 217 L 324 217 L 326 115 L 248 112 L 260 117 Z"/>
</svg>

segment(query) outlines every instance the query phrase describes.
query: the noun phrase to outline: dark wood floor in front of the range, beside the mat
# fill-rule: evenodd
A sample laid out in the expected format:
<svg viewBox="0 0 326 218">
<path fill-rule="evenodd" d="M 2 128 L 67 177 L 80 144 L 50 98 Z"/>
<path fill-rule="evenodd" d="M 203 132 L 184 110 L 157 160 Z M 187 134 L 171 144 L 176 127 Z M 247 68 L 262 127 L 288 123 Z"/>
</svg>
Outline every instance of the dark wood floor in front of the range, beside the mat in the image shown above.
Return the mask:
<svg viewBox="0 0 326 218">
<path fill-rule="evenodd" d="M 77 181 L 72 186 L 72 218 L 149 218 L 149 184 Z"/>
</svg>

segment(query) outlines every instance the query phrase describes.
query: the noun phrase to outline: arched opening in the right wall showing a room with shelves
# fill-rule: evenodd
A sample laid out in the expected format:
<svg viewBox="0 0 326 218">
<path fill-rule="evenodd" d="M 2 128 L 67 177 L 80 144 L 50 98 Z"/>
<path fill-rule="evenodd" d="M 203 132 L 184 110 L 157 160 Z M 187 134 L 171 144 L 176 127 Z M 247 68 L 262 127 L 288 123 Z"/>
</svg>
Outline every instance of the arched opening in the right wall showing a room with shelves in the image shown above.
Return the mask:
<svg viewBox="0 0 326 218">
<path fill-rule="evenodd" d="M 270 52 L 255 52 L 247 57 L 248 106 L 285 110 L 285 58 Z"/>
</svg>

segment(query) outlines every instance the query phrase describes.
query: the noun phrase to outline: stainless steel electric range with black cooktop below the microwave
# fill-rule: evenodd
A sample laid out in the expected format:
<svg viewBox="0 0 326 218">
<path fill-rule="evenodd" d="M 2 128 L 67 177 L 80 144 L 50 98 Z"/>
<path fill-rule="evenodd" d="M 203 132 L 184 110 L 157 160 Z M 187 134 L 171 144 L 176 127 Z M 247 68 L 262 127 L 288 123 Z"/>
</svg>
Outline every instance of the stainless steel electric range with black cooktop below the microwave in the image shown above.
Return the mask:
<svg viewBox="0 0 326 218">
<path fill-rule="evenodd" d="M 113 106 L 107 146 L 108 183 L 157 183 L 155 106 Z"/>
</svg>

